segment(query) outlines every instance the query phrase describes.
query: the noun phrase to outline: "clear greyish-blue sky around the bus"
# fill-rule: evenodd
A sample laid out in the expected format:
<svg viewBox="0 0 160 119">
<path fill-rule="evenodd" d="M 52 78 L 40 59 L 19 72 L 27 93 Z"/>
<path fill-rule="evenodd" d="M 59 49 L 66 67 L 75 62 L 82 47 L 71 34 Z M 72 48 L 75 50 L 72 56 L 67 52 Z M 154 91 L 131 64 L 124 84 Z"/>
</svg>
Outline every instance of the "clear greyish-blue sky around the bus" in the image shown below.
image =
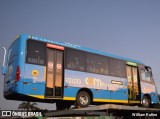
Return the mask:
<svg viewBox="0 0 160 119">
<path fill-rule="evenodd" d="M 136 59 L 152 67 L 160 93 L 159 6 L 159 0 L 0 0 L 0 47 L 26 33 Z M 0 80 L 0 108 L 17 109 L 21 101 L 4 99 L 2 74 Z"/>
</svg>

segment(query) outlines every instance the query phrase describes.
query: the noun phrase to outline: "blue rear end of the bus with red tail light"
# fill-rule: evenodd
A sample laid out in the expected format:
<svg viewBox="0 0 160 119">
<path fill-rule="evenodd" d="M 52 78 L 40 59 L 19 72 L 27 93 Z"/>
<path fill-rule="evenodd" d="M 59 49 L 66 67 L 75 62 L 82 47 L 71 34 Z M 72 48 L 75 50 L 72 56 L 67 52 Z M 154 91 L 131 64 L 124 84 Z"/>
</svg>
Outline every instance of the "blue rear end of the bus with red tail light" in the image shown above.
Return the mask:
<svg viewBox="0 0 160 119">
<path fill-rule="evenodd" d="M 4 76 L 4 97 L 6 99 L 16 99 L 15 94 L 22 93 L 22 79 L 21 74 L 21 52 L 20 37 L 18 37 L 6 50 L 4 47 L 4 61 L 2 67 L 2 74 Z"/>
</svg>

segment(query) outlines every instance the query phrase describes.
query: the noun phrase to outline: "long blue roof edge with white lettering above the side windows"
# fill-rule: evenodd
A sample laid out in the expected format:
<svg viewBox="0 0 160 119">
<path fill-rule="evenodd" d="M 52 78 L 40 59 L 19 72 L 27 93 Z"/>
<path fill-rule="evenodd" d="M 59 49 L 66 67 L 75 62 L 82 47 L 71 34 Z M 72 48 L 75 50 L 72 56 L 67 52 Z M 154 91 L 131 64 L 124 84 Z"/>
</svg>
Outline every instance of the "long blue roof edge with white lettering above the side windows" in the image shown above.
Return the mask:
<svg viewBox="0 0 160 119">
<path fill-rule="evenodd" d="M 49 40 L 49 39 L 46 39 L 46 38 L 41 38 L 41 37 L 27 35 L 27 34 L 22 34 L 22 35 L 20 35 L 20 37 L 22 37 L 22 39 L 24 39 L 24 40 L 27 40 L 28 38 L 31 38 L 31 39 L 38 40 L 38 41 L 43 41 L 43 42 L 47 42 L 47 43 L 51 43 L 51 44 L 56 44 L 56 45 L 60 45 L 60 46 L 64 46 L 64 47 L 69 47 L 69 48 L 73 48 L 73 49 L 77 49 L 77 50 L 81 50 L 81 51 L 87 51 L 87 52 L 90 52 L 90 53 L 96 53 L 96 54 L 100 54 L 100 55 L 104 55 L 104 56 L 117 58 L 117 59 L 121 59 L 121 60 L 125 60 L 125 61 L 129 61 L 129 62 L 144 65 L 143 62 L 138 61 L 138 60 L 134 60 L 134 59 L 126 58 L 126 57 L 121 57 L 121 56 L 113 55 L 113 54 L 110 54 L 110 53 L 101 52 L 101 51 L 98 51 L 98 50 L 82 47 L 80 45 L 74 45 L 74 44 L 67 43 L 67 42 L 58 42 L 58 41 L 53 41 L 53 40 Z"/>
</svg>

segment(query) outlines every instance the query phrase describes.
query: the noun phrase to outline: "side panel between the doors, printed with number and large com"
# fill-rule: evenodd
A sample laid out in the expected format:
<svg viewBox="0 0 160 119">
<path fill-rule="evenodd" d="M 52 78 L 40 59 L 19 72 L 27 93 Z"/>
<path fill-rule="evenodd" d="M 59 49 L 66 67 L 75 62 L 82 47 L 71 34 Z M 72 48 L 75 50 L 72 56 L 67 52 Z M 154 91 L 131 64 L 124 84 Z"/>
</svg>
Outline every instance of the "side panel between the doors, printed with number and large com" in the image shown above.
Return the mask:
<svg viewBox="0 0 160 119">
<path fill-rule="evenodd" d="M 93 94 L 93 101 L 117 100 L 120 102 L 124 100 L 127 102 L 128 100 L 127 79 L 125 78 L 65 70 L 64 87 L 68 87 L 65 88 L 64 97 L 76 97 L 78 88 L 87 88 Z M 74 90 L 72 94 L 71 90 Z"/>
</svg>

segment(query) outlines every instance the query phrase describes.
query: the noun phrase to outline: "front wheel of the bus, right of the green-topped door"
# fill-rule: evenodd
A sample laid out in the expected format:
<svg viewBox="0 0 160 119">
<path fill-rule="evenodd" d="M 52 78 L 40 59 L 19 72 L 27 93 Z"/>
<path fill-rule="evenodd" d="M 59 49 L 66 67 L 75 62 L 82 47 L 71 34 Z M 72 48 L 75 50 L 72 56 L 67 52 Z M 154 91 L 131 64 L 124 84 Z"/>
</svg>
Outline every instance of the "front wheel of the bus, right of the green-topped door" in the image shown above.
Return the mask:
<svg viewBox="0 0 160 119">
<path fill-rule="evenodd" d="M 151 97 L 148 94 L 145 94 L 142 98 L 142 107 L 151 107 Z"/>
</svg>

